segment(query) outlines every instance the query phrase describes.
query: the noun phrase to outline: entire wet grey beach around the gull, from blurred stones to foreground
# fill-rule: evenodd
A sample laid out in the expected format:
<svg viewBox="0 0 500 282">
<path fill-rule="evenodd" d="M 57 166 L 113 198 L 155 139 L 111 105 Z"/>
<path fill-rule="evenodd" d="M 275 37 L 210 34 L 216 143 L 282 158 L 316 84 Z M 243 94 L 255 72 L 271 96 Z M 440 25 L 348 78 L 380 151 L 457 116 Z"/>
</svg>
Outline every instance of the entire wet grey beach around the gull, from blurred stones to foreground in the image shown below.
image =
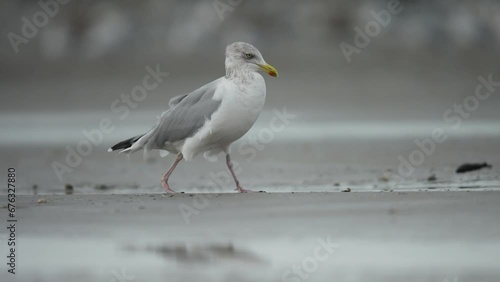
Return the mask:
<svg viewBox="0 0 500 282">
<path fill-rule="evenodd" d="M 499 281 L 498 95 L 457 130 L 443 120 L 474 93 L 479 75 L 496 70 L 490 56 L 461 70 L 456 58 L 436 68 L 435 58 L 347 66 L 319 55 L 273 59 L 281 77 L 268 81 L 265 112 L 233 146 L 244 187 L 269 192 L 248 195 L 234 193 L 222 160 L 199 156 L 170 180 L 174 190 L 198 194 L 162 197 L 159 178 L 172 156 L 106 152 L 148 130 L 169 98 L 221 69 L 163 62 L 171 76 L 125 120 L 110 105 L 141 82 L 145 62 L 82 72 L 23 67 L 17 76 L 9 69 L 12 79 L 0 81 L 0 170 L 17 170 L 19 264 L 14 278 L 2 263 L 0 280 Z M 266 138 L 272 111 L 284 106 L 297 117 Z M 52 164 L 67 164 L 66 147 L 76 148 L 82 131 L 103 118 L 115 130 L 59 180 Z M 408 159 L 419 149 L 415 140 L 436 128 L 447 141 L 401 177 L 399 157 Z M 493 167 L 456 174 L 465 162 Z"/>
</svg>

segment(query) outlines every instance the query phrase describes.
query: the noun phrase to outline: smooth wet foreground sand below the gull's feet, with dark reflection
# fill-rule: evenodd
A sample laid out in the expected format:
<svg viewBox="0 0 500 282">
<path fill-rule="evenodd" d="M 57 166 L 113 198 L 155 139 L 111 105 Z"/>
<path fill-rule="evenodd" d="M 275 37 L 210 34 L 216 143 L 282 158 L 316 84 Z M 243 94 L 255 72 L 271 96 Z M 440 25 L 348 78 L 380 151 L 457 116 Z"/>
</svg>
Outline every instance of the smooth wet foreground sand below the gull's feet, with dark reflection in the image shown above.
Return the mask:
<svg viewBox="0 0 500 282">
<path fill-rule="evenodd" d="M 3 266 L 0 277 L 496 281 L 499 201 L 496 191 L 18 196 L 18 274 Z"/>
</svg>

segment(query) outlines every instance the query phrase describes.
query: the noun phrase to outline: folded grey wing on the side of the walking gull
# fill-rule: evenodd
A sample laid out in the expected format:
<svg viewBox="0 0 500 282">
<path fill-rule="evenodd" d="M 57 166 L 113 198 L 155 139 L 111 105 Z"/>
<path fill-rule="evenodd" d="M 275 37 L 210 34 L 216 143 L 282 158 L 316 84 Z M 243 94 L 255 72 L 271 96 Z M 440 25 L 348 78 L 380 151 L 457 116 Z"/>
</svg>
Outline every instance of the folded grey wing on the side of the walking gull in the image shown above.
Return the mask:
<svg viewBox="0 0 500 282">
<path fill-rule="evenodd" d="M 163 148 L 167 142 L 193 136 L 221 104 L 220 100 L 213 99 L 217 85 L 218 80 L 215 80 L 189 94 L 172 98 L 169 102 L 171 108 L 163 113 L 153 129 L 149 144 L 154 148 Z"/>
</svg>

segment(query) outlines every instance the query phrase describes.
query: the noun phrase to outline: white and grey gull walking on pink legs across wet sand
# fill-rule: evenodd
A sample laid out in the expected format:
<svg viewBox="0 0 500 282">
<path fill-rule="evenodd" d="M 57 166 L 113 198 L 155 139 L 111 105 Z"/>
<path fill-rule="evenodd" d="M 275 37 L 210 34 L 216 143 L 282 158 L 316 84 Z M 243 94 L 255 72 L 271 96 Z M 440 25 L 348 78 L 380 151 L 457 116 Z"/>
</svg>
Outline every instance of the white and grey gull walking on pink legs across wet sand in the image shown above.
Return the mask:
<svg viewBox="0 0 500 282">
<path fill-rule="evenodd" d="M 258 71 L 273 77 L 278 77 L 278 71 L 266 63 L 257 48 L 244 42 L 226 47 L 225 67 L 225 76 L 172 98 L 169 109 L 149 132 L 119 142 L 108 151 L 130 154 L 143 149 L 176 154 L 172 166 L 161 178 L 167 193 L 175 193 L 168 179 L 181 160 L 191 161 L 200 153 L 210 158 L 223 152 L 236 190 L 252 192 L 240 186 L 230 146 L 253 126 L 264 107 L 266 83 Z"/>
</svg>

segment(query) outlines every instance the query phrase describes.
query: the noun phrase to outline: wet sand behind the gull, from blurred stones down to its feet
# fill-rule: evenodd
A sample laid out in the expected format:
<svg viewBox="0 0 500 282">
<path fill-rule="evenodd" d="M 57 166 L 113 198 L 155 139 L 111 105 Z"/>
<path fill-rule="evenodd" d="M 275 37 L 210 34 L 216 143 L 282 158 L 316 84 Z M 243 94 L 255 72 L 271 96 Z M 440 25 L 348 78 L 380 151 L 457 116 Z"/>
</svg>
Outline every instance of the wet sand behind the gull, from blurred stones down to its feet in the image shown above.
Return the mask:
<svg viewBox="0 0 500 282">
<path fill-rule="evenodd" d="M 492 73 L 497 79 L 491 56 L 478 54 L 440 58 L 438 68 L 434 57 L 417 54 L 390 60 L 368 56 L 374 61 L 353 64 L 332 57 L 331 52 L 311 52 L 293 61 L 287 54 L 270 54 L 283 73 L 279 79 L 266 78 L 265 111 L 233 145 L 232 158 L 241 165 L 242 183 L 248 189 L 269 192 L 500 187 L 498 91 L 470 112 L 459 128 L 443 119 L 454 104 L 474 94 L 479 75 Z M 9 72 L 12 77 L 0 78 L 0 90 L 6 95 L 0 104 L 0 130 L 5 132 L 0 135 L 0 170 L 15 167 L 18 192 L 27 195 L 33 194 L 34 185 L 39 194 L 63 194 L 66 184 L 75 187 L 75 194 L 162 191 L 158 179 L 172 156 L 159 158 L 153 153 L 144 161 L 136 153 L 127 160 L 106 150 L 149 130 L 171 97 L 223 75 L 221 57 L 206 64 L 191 59 L 199 68 L 188 67 L 186 58 L 177 56 L 136 64 L 80 63 L 71 71 L 55 64 L 26 73 L 16 65 Z M 457 62 L 468 67 L 457 69 Z M 171 74 L 121 120 L 120 113 L 111 109 L 113 101 L 130 94 L 141 83 L 145 67 L 158 63 Z M 284 107 L 296 117 L 283 130 L 268 134 L 273 111 Z M 96 130 L 104 118 L 113 122 L 114 131 L 103 134 L 90 155 L 58 179 L 52 164 L 66 165 L 66 147 L 76 149 L 79 142 L 88 141 L 82 132 Z M 411 175 L 398 178 L 399 157 L 408 160 L 412 152 L 421 150 L 415 141 L 431 138 L 437 128 L 449 137 L 446 142 L 436 144 Z M 259 144 L 251 145 L 256 136 Z M 455 174 L 465 162 L 488 162 L 493 168 Z M 225 181 L 224 163 L 210 163 L 202 156 L 181 163 L 171 184 L 180 191 L 211 192 L 211 173 L 224 178 L 216 192 L 232 191 L 233 184 Z M 432 176 L 436 180 L 428 181 Z M 0 180 L 4 177 L 0 174 Z"/>
</svg>

